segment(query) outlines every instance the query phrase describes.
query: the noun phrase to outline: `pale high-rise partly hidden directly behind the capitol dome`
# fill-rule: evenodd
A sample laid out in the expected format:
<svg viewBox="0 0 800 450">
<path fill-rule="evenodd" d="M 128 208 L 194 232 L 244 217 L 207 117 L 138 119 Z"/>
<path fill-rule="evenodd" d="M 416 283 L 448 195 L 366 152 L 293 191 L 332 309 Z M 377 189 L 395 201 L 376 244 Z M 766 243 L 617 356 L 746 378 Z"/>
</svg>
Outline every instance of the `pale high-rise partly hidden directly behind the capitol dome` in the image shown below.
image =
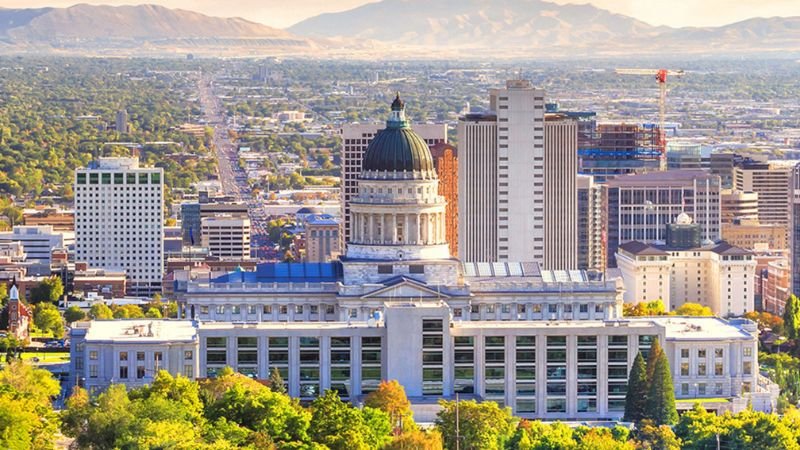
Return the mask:
<svg viewBox="0 0 800 450">
<path fill-rule="evenodd" d="M 358 195 L 358 177 L 361 175 L 361 162 L 372 138 L 384 124 L 348 124 L 342 126 L 342 231 L 340 248 L 350 239 L 350 200 Z M 414 131 L 428 146 L 447 142 L 447 124 L 418 124 Z"/>
</svg>

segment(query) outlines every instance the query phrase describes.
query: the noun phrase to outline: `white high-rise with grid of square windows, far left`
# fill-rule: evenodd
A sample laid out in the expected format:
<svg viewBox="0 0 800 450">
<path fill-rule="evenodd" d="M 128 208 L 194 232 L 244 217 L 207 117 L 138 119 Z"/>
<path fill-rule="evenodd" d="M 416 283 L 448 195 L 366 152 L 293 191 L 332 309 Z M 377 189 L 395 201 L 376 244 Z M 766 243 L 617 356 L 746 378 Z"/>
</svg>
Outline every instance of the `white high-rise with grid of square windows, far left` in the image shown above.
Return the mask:
<svg viewBox="0 0 800 450">
<path fill-rule="evenodd" d="M 124 270 L 128 292 L 161 291 L 164 171 L 138 158 L 100 158 L 75 171 L 75 255 L 91 267 Z"/>
</svg>

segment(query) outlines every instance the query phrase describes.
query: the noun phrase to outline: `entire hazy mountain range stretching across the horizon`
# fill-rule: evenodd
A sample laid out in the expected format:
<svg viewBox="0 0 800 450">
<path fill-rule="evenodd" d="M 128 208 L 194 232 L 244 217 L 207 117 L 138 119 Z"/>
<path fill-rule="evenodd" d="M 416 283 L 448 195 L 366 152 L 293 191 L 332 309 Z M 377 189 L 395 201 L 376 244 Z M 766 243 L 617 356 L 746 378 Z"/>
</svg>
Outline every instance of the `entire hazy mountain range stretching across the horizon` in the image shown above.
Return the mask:
<svg viewBox="0 0 800 450">
<path fill-rule="evenodd" d="M 394 57 L 800 54 L 800 17 L 652 26 L 589 4 L 383 0 L 280 30 L 154 5 L 0 8 L 0 52 Z"/>
</svg>

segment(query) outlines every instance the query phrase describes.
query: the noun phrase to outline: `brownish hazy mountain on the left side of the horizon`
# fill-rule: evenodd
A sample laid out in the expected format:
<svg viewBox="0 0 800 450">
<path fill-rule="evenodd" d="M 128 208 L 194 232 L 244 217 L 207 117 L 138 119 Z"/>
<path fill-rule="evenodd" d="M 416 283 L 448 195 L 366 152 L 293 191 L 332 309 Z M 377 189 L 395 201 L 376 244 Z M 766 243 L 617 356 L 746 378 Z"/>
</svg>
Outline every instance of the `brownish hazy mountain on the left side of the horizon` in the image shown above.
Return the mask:
<svg viewBox="0 0 800 450">
<path fill-rule="evenodd" d="M 0 9 L 6 51 L 158 54 L 177 51 L 306 52 L 316 47 L 241 18 L 210 17 L 155 5 Z"/>
</svg>

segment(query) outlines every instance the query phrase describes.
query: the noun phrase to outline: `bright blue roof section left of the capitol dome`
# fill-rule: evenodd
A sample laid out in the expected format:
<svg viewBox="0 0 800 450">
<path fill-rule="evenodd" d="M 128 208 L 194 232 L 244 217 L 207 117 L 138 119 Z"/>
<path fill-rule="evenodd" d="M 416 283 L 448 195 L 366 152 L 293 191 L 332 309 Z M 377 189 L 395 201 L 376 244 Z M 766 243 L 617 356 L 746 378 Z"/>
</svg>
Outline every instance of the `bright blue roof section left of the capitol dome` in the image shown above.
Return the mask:
<svg viewBox="0 0 800 450">
<path fill-rule="evenodd" d="M 342 265 L 332 263 L 264 263 L 254 272 L 234 270 L 212 280 L 213 283 L 319 283 L 335 282 L 342 276 Z"/>
</svg>

